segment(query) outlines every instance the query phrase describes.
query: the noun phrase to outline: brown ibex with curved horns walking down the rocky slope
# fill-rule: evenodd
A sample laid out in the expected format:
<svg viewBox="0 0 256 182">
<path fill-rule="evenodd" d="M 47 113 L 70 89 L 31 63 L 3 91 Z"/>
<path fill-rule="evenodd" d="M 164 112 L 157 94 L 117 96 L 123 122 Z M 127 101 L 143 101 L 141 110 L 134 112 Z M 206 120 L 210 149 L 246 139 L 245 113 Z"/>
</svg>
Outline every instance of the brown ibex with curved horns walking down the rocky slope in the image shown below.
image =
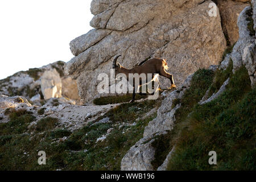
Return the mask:
<svg viewBox="0 0 256 182">
<path fill-rule="evenodd" d="M 121 56 L 121 55 L 119 55 Z M 171 81 L 171 86 L 170 88 L 176 88 L 175 84 L 174 84 L 174 77 L 170 74 L 166 72 L 166 69 L 168 69 L 166 60 L 164 59 L 150 59 L 147 61 L 143 61 L 141 64 L 137 65 L 136 67 L 132 68 L 132 69 L 126 69 L 124 67 L 121 66 L 121 64 L 117 63 L 117 59 L 119 56 L 116 56 L 114 61 L 113 61 L 113 69 L 115 69 L 115 76 L 117 76 L 118 73 L 123 73 L 126 75 L 127 81 L 129 78 L 129 73 L 138 73 L 138 75 L 141 75 L 141 73 L 144 74 L 148 74 L 151 73 L 152 76 L 154 76 L 154 74 L 159 74 L 161 76 L 164 76 L 166 78 L 169 78 Z M 152 80 L 152 79 L 151 79 Z M 148 81 L 151 81 L 148 80 Z M 134 83 L 134 82 L 133 82 Z M 141 84 L 141 80 L 140 80 L 140 84 Z M 139 85 L 141 86 L 141 85 Z M 133 85 L 133 99 L 131 100 L 131 102 L 133 102 L 135 100 L 135 85 Z"/>
</svg>

